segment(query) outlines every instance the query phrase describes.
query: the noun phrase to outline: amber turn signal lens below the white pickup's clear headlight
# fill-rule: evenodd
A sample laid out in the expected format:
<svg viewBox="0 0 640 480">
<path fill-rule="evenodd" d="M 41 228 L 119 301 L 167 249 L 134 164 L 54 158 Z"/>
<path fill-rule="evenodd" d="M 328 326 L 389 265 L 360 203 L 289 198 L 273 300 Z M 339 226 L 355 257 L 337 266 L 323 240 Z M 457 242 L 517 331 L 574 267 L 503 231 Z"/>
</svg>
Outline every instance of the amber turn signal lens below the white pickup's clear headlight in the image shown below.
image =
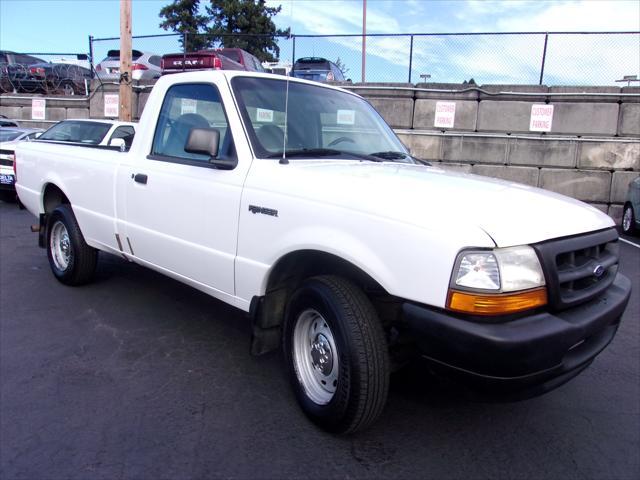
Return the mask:
<svg viewBox="0 0 640 480">
<path fill-rule="evenodd" d="M 506 315 L 547 304 L 547 289 L 518 293 L 477 294 L 449 290 L 447 308 L 472 315 Z"/>
</svg>

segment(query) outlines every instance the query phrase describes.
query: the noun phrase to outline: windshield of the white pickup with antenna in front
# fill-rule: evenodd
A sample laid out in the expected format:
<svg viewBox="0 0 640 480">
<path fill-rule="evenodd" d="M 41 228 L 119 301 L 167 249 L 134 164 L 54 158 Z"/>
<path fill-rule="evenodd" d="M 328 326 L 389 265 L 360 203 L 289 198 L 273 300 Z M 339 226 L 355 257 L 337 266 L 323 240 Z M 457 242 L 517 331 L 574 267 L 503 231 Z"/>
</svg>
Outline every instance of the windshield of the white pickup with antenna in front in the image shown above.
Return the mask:
<svg viewBox="0 0 640 480">
<path fill-rule="evenodd" d="M 368 157 L 377 152 L 395 152 L 383 160 L 413 163 L 391 128 L 360 97 L 293 81 L 287 100 L 284 79 L 235 77 L 231 86 L 258 158 L 277 158 L 283 149 L 295 158 L 313 158 L 322 149 L 335 152 L 335 158 L 372 160 Z"/>
</svg>

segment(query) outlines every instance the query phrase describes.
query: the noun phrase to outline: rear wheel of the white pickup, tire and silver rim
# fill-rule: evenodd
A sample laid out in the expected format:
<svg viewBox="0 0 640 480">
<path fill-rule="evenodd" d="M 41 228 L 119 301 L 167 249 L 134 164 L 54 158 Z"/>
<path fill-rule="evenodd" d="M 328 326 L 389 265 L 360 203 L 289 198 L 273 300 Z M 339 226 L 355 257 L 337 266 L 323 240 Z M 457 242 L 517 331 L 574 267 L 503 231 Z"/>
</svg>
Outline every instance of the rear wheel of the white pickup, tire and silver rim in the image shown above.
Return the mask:
<svg viewBox="0 0 640 480">
<path fill-rule="evenodd" d="M 53 275 L 65 285 L 83 285 L 93 278 L 98 251 L 85 242 L 69 205 L 60 205 L 48 217 L 47 257 Z"/>
</svg>

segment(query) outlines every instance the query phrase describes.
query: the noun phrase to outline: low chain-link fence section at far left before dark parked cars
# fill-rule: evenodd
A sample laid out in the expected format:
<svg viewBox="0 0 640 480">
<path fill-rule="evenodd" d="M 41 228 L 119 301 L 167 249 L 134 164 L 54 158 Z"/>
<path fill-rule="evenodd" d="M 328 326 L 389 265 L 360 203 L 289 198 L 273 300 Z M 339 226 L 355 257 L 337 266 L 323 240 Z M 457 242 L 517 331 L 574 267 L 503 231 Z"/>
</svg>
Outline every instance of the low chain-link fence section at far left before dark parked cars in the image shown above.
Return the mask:
<svg viewBox="0 0 640 480">
<path fill-rule="evenodd" d="M 90 68 L 86 53 L 0 52 L 0 93 L 86 95 Z"/>
</svg>

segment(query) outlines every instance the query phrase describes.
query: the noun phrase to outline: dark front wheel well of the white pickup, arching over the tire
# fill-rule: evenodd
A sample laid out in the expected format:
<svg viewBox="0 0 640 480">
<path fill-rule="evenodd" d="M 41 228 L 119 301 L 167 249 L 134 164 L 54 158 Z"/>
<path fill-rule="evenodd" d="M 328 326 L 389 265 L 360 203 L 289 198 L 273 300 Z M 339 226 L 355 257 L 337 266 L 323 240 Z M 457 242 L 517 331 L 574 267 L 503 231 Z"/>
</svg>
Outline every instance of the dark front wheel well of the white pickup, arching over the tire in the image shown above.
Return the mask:
<svg viewBox="0 0 640 480">
<path fill-rule="evenodd" d="M 285 255 L 276 263 L 269 275 L 265 295 L 254 297 L 252 301 L 254 354 L 278 347 L 287 301 L 298 285 L 306 278 L 328 274 L 346 278 L 361 288 L 383 325 L 389 325 L 397 318 L 398 300 L 361 268 L 326 252 L 299 250 Z"/>
</svg>

